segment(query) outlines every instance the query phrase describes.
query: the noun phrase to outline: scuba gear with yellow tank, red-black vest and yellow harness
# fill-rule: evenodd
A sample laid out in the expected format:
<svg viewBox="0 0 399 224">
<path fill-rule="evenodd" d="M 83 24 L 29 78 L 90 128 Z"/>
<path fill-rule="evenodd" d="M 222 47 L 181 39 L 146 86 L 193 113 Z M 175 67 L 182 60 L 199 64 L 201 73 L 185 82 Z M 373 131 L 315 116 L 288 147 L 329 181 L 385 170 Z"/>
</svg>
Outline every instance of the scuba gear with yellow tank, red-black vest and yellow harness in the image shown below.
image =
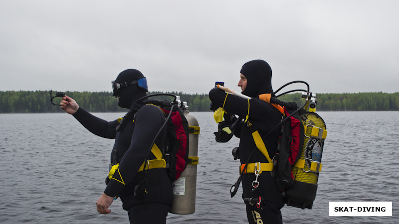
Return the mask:
<svg viewBox="0 0 399 224">
<path fill-rule="evenodd" d="M 292 83 L 304 83 L 308 87 L 307 91 L 294 90 L 284 93 L 306 92 L 302 94 L 302 98 L 306 98 L 306 102 L 302 107 L 298 107 L 295 102 L 284 102 L 278 100 L 277 97 L 272 97 L 282 88 Z M 316 197 L 317 181 L 322 167 L 321 156 L 324 139 L 327 136 L 326 124 L 321 116 L 316 113 L 316 95 L 310 93 L 309 85 L 306 82 L 294 81 L 285 84 L 273 95 L 260 95 L 259 99 L 272 104 L 283 114 L 282 121 L 275 127 L 281 128 L 281 134 L 275 156 L 271 159 L 272 161 L 267 158 L 267 153 L 263 153 L 264 149 L 262 149 L 264 146 L 263 139 L 271 131 L 262 139 L 257 134 L 257 128 L 252 127 L 251 131 L 256 147 L 260 151 L 263 150 L 262 153 L 269 161 L 269 163 L 259 164 L 259 166 L 265 167 L 263 168 L 264 171 L 271 171 L 271 175 L 276 179 L 277 186 L 282 192 L 283 201 L 287 206 L 312 209 L 313 201 Z M 252 155 L 253 152 L 250 157 Z M 256 171 L 262 171 L 256 167 L 256 164 L 246 163 L 240 166 L 240 176 L 246 172 L 256 174 Z M 231 197 L 235 195 L 240 178 L 231 187 Z M 252 204 L 251 200 L 252 198 L 244 199 L 244 202 Z"/>
</svg>

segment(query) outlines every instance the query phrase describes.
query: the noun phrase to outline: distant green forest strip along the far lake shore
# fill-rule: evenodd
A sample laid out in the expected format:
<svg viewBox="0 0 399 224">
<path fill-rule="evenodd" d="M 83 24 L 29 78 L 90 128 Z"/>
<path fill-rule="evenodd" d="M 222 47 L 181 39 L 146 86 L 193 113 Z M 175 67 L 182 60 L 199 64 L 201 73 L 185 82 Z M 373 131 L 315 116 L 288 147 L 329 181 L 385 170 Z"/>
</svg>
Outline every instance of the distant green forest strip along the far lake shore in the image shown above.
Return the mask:
<svg viewBox="0 0 399 224">
<path fill-rule="evenodd" d="M 149 92 L 155 94 L 161 92 Z M 168 92 L 186 101 L 191 112 L 208 112 L 210 100 L 207 94 L 184 94 Z M 65 94 L 89 112 L 124 112 L 112 92 L 65 92 Z M 399 111 L 398 93 L 342 93 L 316 94 L 318 111 Z M 55 96 L 55 92 L 53 92 Z M 60 98 L 55 98 L 57 103 Z M 155 98 L 157 99 L 157 98 Z M 159 97 L 158 97 L 159 99 Z M 171 97 L 165 98 L 171 100 Z M 300 93 L 279 97 L 284 101 L 304 104 Z M 160 100 L 160 99 L 159 99 Z M 46 113 L 62 112 L 50 103 L 50 91 L 0 91 L 0 113 Z"/>
</svg>

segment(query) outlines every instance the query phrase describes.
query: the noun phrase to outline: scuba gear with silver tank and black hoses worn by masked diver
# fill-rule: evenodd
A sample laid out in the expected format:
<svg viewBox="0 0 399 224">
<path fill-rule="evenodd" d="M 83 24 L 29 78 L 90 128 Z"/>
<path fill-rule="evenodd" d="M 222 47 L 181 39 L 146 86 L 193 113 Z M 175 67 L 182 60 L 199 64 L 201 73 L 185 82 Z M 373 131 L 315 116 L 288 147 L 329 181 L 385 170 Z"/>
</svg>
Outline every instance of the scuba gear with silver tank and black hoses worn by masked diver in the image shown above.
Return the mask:
<svg viewBox="0 0 399 224">
<path fill-rule="evenodd" d="M 150 98 L 150 97 L 156 97 L 156 96 L 171 96 L 174 97 L 175 99 L 173 100 L 173 102 L 169 102 L 169 101 L 160 101 L 160 100 L 144 100 L 146 98 Z M 142 102 L 141 102 L 142 101 Z M 174 213 L 174 214 L 180 214 L 180 215 L 186 215 L 186 214 L 193 214 L 195 212 L 195 206 L 196 206 L 196 190 L 197 190 L 197 164 L 199 161 L 198 158 L 198 138 L 199 138 L 199 134 L 200 134 L 200 127 L 198 124 L 197 119 L 189 114 L 189 107 L 187 106 L 187 102 L 183 102 L 180 100 L 179 96 L 175 96 L 173 94 L 152 94 L 152 95 L 148 95 L 146 97 L 143 97 L 142 99 L 140 99 L 141 103 L 138 103 L 137 105 L 137 109 L 139 109 L 140 107 L 142 107 L 145 104 L 154 104 L 154 105 L 158 105 L 160 106 L 161 110 L 163 110 L 163 112 L 168 112 L 169 115 L 166 118 L 166 122 L 164 125 L 167 124 L 168 120 L 172 120 L 171 119 L 171 115 L 172 115 L 172 111 L 173 108 L 177 107 L 178 110 L 176 110 L 176 112 L 180 111 L 179 114 L 175 114 L 176 116 L 184 116 L 182 118 L 184 118 L 183 120 L 176 121 L 177 124 L 188 124 L 188 130 L 184 131 L 184 132 L 175 132 L 175 127 L 173 127 L 173 135 L 175 136 L 174 138 L 176 138 L 175 140 L 177 140 L 179 142 L 178 146 L 176 146 L 175 143 L 173 143 L 172 147 L 177 147 L 176 149 L 181 150 L 181 146 L 180 143 L 182 143 L 179 139 L 183 139 L 184 137 L 186 137 L 187 135 L 187 142 L 188 142 L 188 155 L 185 154 L 185 158 L 180 157 L 180 160 L 177 160 L 177 153 L 175 151 L 175 153 L 172 153 L 171 151 L 165 151 L 162 153 L 162 157 L 164 160 L 166 160 L 166 166 L 164 166 L 164 168 L 166 168 L 168 175 L 170 175 L 170 179 L 173 182 L 172 186 L 173 186 L 173 206 L 171 208 L 170 213 Z M 164 108 L 168 109 L 169 111 L 164 110 Z M 133 116 L 134 113 L 137 110 L 130 110 L 127 115 L 125 117 L 128 116 Z M 182 115 L 183 114 L 183 115 Z M 126 122 L 125 117 L 120 121 L 120 124 L 123 124 L 124 122 Z M 186 122 L 187 120 L 187 122 Z M 171 121 L 174 125 L 174 122 Z M 122 125 L 123 126 L 123 125 Z M 183 125 L 182 125 L 183 126 Z M 163 126 L 164 127 L 164 126 Z M 160 129 L 159 133 L 161 132 L 162 128 Z M 120 130 L 120 126 L 117 127 L 117 130 Z M 159 134 L 158 133 L 158 134 Z M 157 136 L 158 136 L 157 134 Z M 157 136 L 154 138 L 154 141 L 152 143 L 152 145 L 155 142 L 155 139 L 157 138 Z M 186 146 L 183 146 L 184 150 L 186 150 L 187 144 Z M 148 154 L 151 153 L 151 149 L 149 150 Z M 182 155 L 180 155 L 182 156 Z M 172 158 L 174 157 L 174 158 Z M 148 155 L 147 155 L 148 158 Z M 148 159 L 146 159 L 148 161 Z M 184 160 L 184 161 L 183 161 Z M 184 163 L 185 162 L 185 163 Z M 181 168 L 181 170 L 183 170 L 182 173 L 180 173 L 181 171 L 177 172 L 177 164 L 179 164 L 179 167 Z M 143 163 L 144 168 L 143 170 L 146 169 L 146 165 L 147 162 Z M 151 168 L 150 168 L 151 169 Z M 113 171 L 115 172 L 115 171 Z M 111 179 L 112 175 L 110 177 L 107 177 L 107 179 Z M 142 192 L 140 192 L 141 194 L 144 194 L 145 192 L 145 186 L 141 187 L 138 185 L 136 186 L 137 189 L 141 189 Z M 135 195 L 138 195 L 136 193 L 136 189 L 135 189 Z M 135 196 L 136 197 L 136 196 Z"/>
</svg>

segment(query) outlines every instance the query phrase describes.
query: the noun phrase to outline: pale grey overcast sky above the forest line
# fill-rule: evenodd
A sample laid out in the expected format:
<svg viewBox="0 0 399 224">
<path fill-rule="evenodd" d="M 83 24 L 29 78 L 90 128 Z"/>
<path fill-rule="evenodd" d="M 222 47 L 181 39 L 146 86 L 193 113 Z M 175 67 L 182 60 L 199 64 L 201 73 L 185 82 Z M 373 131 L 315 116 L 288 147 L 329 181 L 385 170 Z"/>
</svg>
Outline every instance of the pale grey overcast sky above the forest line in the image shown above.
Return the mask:
<svg viewBox="0 0 399 224">
<path fill-rule="evenodd" d="M 303 80 L 315 93 L 399 92 L 398 8 L 397 0 L 1 0 L 0 91 L 111 92 L 128 68 L 150 91 L 207 94 L 215 81 L 239 91 L 242 64 L 263 59 L 274 90 Z"/>
</svg>

